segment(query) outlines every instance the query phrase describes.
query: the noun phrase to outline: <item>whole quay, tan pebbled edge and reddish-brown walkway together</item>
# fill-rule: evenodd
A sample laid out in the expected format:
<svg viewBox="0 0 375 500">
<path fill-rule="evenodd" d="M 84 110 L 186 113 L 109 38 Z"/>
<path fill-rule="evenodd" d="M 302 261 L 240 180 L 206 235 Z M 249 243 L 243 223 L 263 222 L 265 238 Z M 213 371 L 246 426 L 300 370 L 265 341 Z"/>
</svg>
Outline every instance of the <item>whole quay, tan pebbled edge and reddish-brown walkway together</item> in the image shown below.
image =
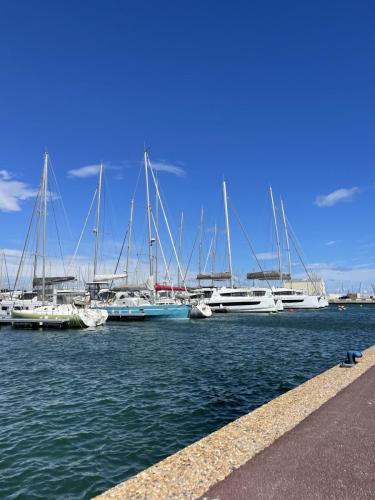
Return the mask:
<svg viewBox="0 0 375 500">
<path fill-rule="evenodd" d="M 97 498 L 373 498 L 374 366 L 372 347 Z"/>
</svg>

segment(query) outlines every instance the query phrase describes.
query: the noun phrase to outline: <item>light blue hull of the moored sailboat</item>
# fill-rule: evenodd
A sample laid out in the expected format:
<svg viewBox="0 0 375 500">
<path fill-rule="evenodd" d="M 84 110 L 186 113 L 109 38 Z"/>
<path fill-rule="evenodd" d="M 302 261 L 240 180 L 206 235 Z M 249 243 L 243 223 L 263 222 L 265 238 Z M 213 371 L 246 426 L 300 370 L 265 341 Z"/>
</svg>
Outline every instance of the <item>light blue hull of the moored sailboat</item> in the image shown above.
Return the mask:
<svg viewBox="0 0 375 500">
<path fill-rule="evenodd" d="M 105 306 L 108 318 L 115 320 L 131 315 L 144 316 L 145 319 L 188 319 L 191 306 L 187 304 L 143 305 L 143 306 Z"/>
</svg>

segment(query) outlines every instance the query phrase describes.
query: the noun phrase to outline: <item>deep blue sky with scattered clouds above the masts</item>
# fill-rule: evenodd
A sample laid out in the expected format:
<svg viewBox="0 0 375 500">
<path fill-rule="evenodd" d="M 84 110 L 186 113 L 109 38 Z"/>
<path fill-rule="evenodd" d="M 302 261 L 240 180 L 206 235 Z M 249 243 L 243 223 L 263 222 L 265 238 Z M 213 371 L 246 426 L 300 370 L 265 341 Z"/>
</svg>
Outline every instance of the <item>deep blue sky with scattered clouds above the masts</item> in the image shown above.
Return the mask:
<svg viewBox="0 0 375 500">
<path fill-rule="evenodd" d="M 236 276 L 256 265 L 235 213 L 263 266 L 275 267 L 272 185 L 328 288 L 372 291 L 374 22 L 371 1 L 3 0 L 0 248 L 9 259 L 22 249 L 48 150 L 64 256 L 103 162 L 102 261 L 121 247 L 135 191 L 133 260 L 144 259 L 146 146 L 175 238 L 184 212 L 185 264 L 203 206 L 204 251 L 217 223 L 216 266 L 226 266 L 225 179 Z M 90 217 L 82 260 L 92 256 Z"/>
</svg>

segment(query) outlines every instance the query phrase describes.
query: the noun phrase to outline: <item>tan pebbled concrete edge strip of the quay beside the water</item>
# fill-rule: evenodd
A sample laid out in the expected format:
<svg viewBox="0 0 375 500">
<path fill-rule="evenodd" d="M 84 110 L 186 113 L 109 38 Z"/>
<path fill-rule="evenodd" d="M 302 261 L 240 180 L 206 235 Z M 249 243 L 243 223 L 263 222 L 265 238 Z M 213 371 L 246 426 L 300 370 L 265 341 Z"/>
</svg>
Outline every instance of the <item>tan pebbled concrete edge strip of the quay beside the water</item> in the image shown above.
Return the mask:
<svg viewBox="0 0 375 500">
<path fill-rule="evenodd" d="M 322 372 L 95 498 L 199 498 L 374 365 L 372 346 L 352 368 Z"/>
</svg>

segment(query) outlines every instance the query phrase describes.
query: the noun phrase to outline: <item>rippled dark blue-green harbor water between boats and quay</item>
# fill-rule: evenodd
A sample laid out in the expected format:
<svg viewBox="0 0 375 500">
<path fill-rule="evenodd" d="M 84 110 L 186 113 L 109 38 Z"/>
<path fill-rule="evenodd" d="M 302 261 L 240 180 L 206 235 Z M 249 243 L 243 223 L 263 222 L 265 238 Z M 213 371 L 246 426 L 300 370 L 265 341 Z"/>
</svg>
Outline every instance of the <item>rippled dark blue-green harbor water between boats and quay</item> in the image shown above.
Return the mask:
<svg viewBox="0 0 375 500">
<path fill-rule="evenodd" d="M 0 330 L 0 491 L 87 499 L 375 344 L 375 307 Z"/>
</svg>

